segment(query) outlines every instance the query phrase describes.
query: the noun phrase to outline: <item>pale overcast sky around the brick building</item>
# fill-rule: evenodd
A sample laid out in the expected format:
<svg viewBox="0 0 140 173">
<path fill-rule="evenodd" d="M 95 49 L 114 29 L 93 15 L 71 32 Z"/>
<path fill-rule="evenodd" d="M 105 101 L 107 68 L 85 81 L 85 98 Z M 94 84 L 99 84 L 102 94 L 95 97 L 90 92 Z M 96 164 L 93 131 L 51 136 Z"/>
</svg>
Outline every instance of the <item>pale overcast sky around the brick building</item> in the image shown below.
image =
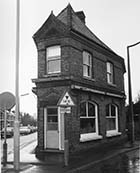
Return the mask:
<svg viewBox="0 0 140 173">
<path fill-rule="evenodd" d="M 140 41 L 140 0 L 20 0 L 20 111 L 35 115 L 37 98 L 32 93 L 37 78 L 37 49 L 33 34 L 51 11 L 58 15 L 68 3 L 84 11 L 86 25 L 113 51 L 125 59 L 128 45 Z M 0 93 L 15 95 L 16 0 L 0 1 Z M 132 97 L 140 93 L 140 44 L 130 48 Z M 128 96 L 127 73 L 125 91 Z M 24 95 L 25 96 L 22 96 Z"/>
</svg>

